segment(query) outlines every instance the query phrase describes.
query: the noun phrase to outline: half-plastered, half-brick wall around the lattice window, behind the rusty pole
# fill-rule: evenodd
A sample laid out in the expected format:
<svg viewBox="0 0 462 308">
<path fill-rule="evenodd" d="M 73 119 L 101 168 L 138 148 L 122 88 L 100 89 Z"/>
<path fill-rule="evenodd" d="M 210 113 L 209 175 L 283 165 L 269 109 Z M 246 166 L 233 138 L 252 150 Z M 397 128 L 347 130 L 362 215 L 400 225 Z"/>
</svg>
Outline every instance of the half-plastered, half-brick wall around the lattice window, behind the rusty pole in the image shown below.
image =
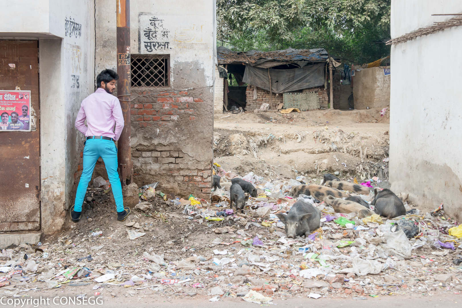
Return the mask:
<svg viewBox="0 0 462 308">
<path fill-rule="evenodd" d="M 132 88 L 132 153 L 135 182 L 160 181 L 176 195 L 207 197 L 213 161 L 214 1 L 132 0 L 131 52 L 170 55 L 170 87 Z M 112 0 L 97 0 L 111 11 Z M 187 9 L 172 10 L 171 8 Z M 97 16 L 103 14 L 97 9 Z M 96 72 L 115 66 L 114 22 L 97 19 Z M 155 19 L 157 36 L 145 31 Z M 108 22 L 109 21 L 109 22 Z M 151 28 L 152 29 L 152 28 Z M 145 43 L 147 42 L 147 43 Z M 179 91 L 194 88 L 187 91 Z M 143 96 L 148 93 L 160 95 Z"/>
</svg>

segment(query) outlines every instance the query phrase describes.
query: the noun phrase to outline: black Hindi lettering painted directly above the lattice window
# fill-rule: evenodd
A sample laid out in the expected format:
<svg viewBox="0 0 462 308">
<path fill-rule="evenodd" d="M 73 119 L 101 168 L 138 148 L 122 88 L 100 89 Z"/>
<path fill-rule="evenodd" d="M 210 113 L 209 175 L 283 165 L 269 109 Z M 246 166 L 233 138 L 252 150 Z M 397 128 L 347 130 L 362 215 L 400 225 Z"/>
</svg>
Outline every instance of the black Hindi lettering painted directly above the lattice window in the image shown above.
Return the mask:
<svg viewBox="0 0 462 308">
<path fill-rule="evenodd" d="M 152 53 L 154 51 L 171 49 L 169 34 L 170 31 L 164 28 L 164 19 L 155 16 L 149 17 L 148 24 L 140 31 L 140 45 Z"/>
</svg>

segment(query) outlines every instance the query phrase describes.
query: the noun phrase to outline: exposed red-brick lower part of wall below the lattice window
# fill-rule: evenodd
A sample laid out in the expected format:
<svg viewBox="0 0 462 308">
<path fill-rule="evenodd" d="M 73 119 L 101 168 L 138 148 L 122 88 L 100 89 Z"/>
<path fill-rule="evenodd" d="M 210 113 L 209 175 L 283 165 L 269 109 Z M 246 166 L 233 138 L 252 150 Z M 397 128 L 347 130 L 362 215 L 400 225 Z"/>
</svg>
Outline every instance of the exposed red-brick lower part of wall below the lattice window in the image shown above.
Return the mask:
<svg viewBox="0 0 462 308">
<path fill-rule="evenodd" d="M 182 197 L 192 193 L 195 197 L 210 198 L 211 89 L 139 97 L 131 104 L 132 159 L 138 186 L 160 181 L 156 189 L 164 193 Z M 132 89 L 132 95 L 133 92 Z M 149 93 L 138 92 L 140 95 Z"/>
</svg>

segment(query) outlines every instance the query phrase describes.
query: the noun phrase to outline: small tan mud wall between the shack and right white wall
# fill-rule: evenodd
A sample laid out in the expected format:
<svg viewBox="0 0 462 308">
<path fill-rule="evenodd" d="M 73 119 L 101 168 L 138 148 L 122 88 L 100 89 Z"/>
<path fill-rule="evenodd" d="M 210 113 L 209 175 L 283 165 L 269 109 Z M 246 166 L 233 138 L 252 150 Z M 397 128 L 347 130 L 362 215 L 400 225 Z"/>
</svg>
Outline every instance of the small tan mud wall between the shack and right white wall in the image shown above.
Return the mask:
<svg viewBox="0 0 462 308">
<path fill-rule="evenodd" d="M 384 108 L 390 105 L 390 75 L 383 74 L 383 66 L 354 72 L 354 109 Z"/>
</svg>

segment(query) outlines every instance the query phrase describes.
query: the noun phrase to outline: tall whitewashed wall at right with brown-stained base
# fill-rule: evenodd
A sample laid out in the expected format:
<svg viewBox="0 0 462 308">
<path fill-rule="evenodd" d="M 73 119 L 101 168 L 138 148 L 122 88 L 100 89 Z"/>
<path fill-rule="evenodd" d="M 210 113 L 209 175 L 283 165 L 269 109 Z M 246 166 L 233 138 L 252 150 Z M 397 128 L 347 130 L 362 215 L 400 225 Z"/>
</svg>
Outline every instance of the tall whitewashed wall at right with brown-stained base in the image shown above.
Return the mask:
<svg viewBox="0 0 462 308">
<path fill-rule="evenodd" d="M 462 3 L 456 0 L 393 0 L 391 7 L 393 38 L 452 17 L 432 14 L 462 12 Z M 437 47 L 448 59 L 456 59 L 462 41 L 454 38 L 461 36 L 458 26 L 393 45 L 390 93 L 391 189 L 410 193 L 419 205 L 443 203 L 446 213 L 458 221 L 462 220 L 462 164 L 458 159 L 462 64 L 441 65 L 434 50 Z"/>
</svg>

